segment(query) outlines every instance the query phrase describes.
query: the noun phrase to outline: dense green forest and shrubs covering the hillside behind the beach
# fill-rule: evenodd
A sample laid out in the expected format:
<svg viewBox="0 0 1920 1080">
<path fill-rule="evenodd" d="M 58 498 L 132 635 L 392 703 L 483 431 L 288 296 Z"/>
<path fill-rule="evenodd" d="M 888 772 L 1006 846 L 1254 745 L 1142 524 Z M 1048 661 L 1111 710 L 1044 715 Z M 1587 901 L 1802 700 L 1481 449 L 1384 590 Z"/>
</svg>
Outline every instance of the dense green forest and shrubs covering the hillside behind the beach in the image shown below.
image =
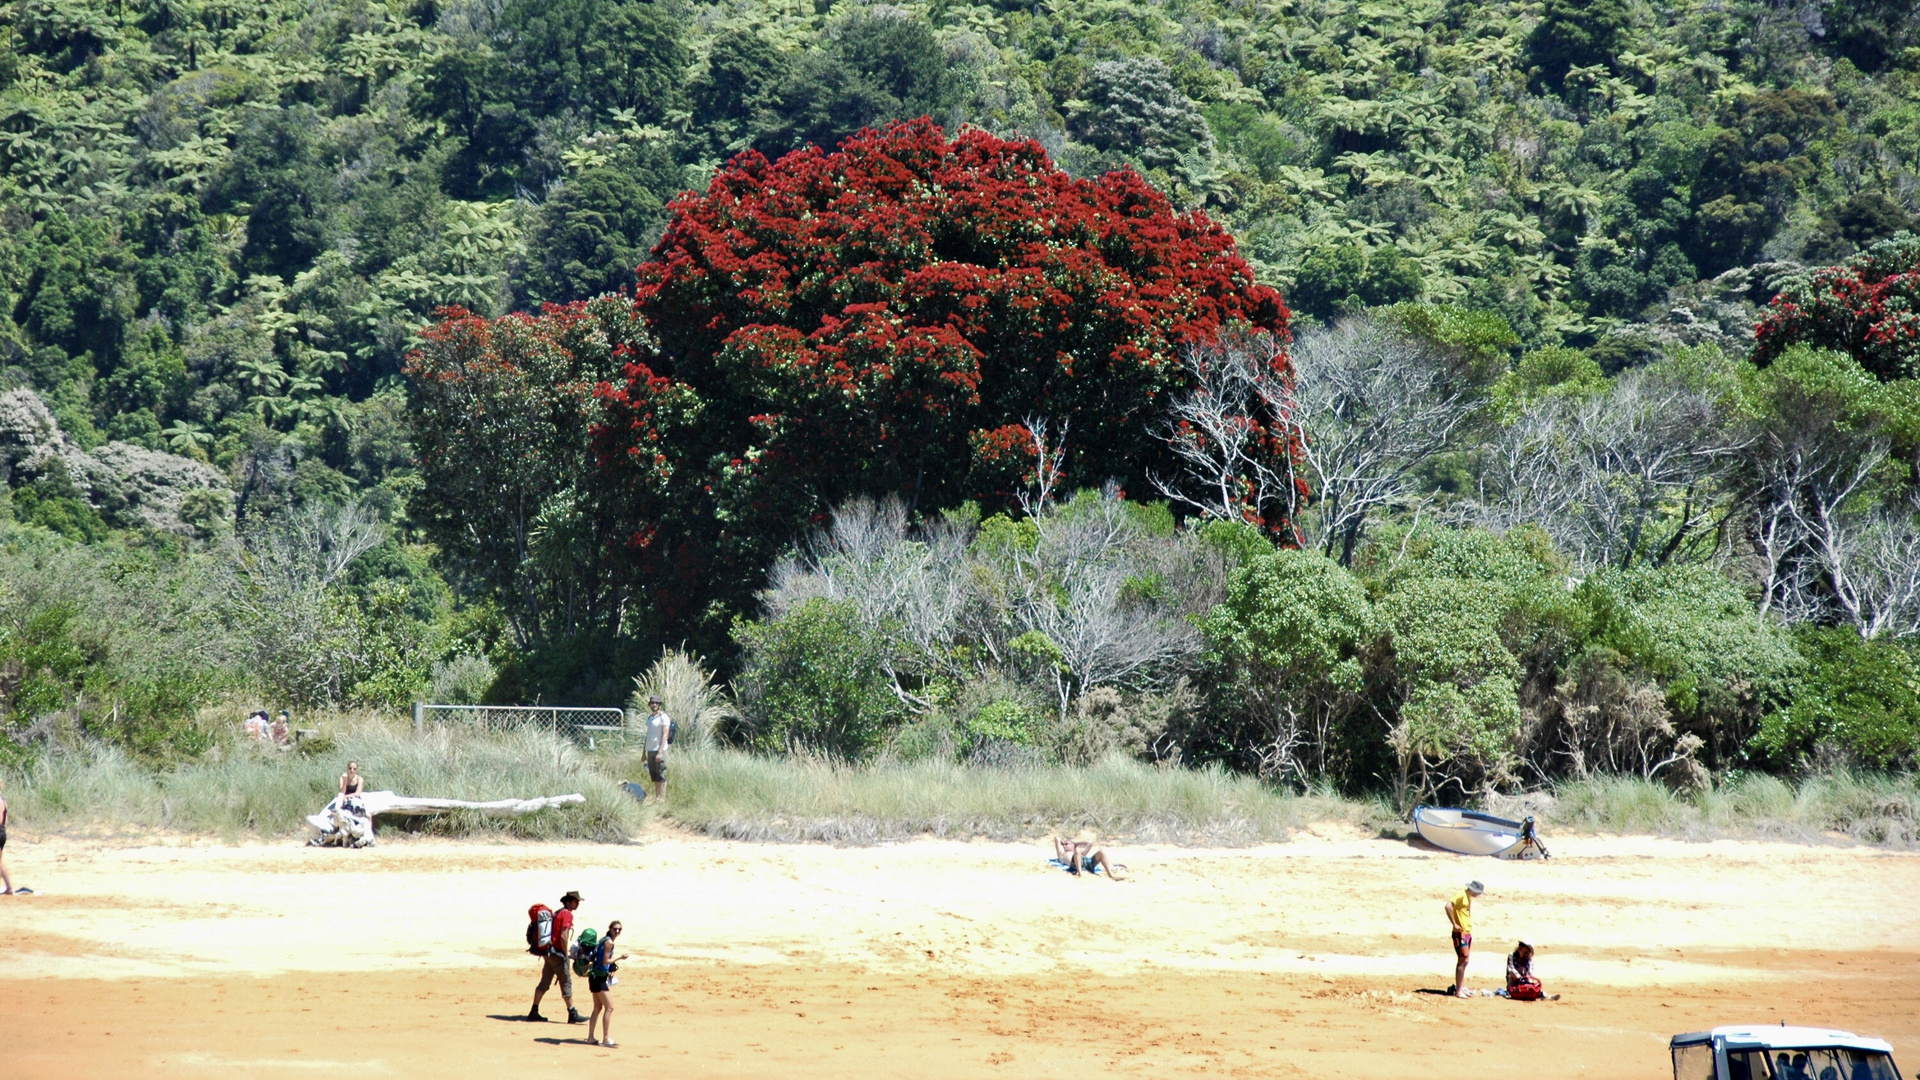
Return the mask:
<svg viewBox="0 0 1920 1080">
<path fill-rule="evenodd" d="M 1281 338 L 1167 346 L 1129 423 L 1294 417 L 1269 528 L 1217 492 L 1271 461 L 1075 421 L 998 498 L 793 480 L 666 611 L 584 479 L 574 386 L 657 348 L 624 302 L 499 398 L 532 503 L 482 513 L 497 448 L 407 375 L 436 311 L 632 292 L 737 154 L 912 117 L 1233 234 L 1298 388 L 1258 377 Z M 13 0 L 4 753 L 192 755 L 242 700 L 618 701 L 685 646 L 766 749 L 1402 792 L 1910 767 L 1916 181 L 1910 0 Z"/>
</svg>

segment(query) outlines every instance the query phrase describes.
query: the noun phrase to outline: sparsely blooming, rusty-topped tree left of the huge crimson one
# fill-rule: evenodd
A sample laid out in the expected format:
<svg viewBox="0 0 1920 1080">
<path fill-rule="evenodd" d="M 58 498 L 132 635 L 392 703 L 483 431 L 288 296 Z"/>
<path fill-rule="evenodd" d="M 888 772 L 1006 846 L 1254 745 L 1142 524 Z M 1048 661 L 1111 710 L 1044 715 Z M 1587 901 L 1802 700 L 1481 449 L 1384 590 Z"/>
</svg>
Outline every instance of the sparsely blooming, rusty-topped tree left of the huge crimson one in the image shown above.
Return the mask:
<svg viewBox="0 0 1920 1080">
<path fill-rule="evenodd" d="M 632 601 L 628 521 L 666 496 L 668 477 L 636 463 L 624 484 L 595 482 L 593 452 L 599 392 L 624 379 L 636 348 L 651 348 L 632 304 L 440 315 L 407 363 L 424 480 L 409 500 L 413 523 L 455 582 L 495 600 L 522 650 L 639 630 L 634 617 L 647 609 Z M 660 442 L 660 427 L 687 419 L 674 405 L 662 394 L 645 421 Z"/>
</svg>

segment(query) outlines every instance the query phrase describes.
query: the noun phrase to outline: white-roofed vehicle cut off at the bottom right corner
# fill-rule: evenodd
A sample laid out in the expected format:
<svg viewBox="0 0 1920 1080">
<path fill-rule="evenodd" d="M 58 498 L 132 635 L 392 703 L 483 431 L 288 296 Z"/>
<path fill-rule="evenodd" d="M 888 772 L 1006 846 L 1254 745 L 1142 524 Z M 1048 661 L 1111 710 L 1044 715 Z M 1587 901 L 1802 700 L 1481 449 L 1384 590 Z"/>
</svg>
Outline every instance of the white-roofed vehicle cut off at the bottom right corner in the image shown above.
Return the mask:
<svg viewBox="0 0 1920 1080">
<path fill-rule="evenodd" d="M 1893 1045 L 1832 1028 L 1715 1028 L 1668 1043 L 1674 1080 L 1901 1080 Z"/>
</svg>

